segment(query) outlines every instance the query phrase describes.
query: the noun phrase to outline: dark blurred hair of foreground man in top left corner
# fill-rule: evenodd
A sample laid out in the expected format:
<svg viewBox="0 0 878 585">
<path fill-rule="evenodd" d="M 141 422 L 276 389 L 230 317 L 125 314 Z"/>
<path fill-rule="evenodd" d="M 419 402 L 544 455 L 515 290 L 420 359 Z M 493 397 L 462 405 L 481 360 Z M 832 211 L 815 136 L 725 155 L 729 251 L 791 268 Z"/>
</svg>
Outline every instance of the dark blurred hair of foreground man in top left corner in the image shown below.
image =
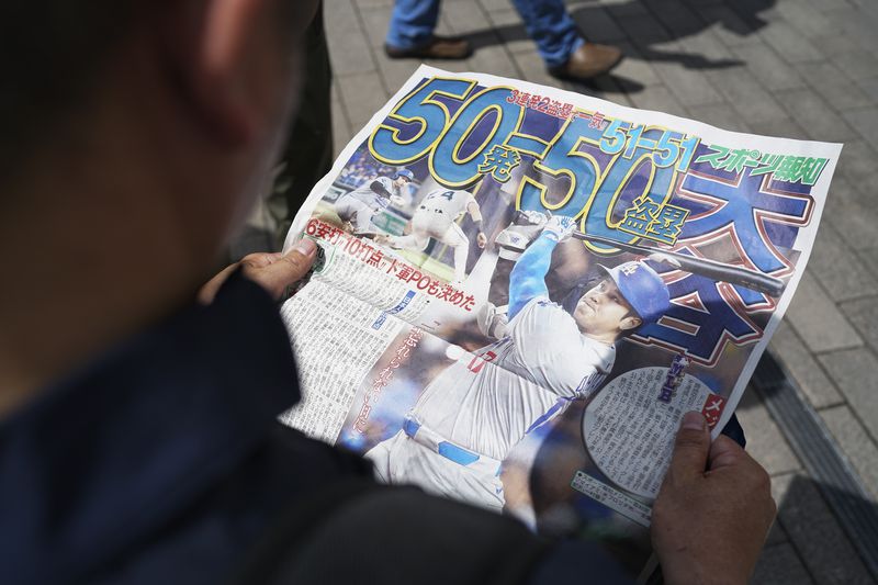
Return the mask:
<svg viewBox="0 0 878 585">
<path fill-rule="evenodd" d="M 139 3 L 0 0 L 0 179 L 83 103 Z"/>
</svg>

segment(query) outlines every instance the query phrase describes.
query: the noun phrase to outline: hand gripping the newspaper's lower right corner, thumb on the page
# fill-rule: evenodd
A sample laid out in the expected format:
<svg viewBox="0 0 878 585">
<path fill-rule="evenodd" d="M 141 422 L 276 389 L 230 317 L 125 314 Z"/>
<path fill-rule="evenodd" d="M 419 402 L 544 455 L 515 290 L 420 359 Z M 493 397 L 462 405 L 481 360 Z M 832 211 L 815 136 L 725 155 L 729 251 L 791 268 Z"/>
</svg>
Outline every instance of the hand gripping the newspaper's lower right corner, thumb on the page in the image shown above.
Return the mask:
<svg viewBox="0 0 878 585">
<path fill-rule="evenodd" d="M 705 417 L 687 413 L 652 510 L 665 582 L 745 584 L 776 511 L 765 470 L 728 437 L 711 445 Z"/>
</svg>

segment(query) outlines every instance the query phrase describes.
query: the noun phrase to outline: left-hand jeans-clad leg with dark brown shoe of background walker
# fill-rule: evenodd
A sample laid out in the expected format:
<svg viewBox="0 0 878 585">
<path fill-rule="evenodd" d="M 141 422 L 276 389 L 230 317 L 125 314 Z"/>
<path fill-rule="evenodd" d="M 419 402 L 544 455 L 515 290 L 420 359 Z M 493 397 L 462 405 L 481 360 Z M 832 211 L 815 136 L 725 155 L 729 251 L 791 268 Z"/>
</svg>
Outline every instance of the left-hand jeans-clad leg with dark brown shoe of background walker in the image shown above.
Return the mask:
<svg viewBox="0 0 878 585">
<path fill-rule="evenodd" d="M 387 29 L 384 50 L 398 58 L 463 59 L 470 43 L 459 37 L 432 34 L 439 21 L 439 0 L 396 0 Z"/>
</svg>

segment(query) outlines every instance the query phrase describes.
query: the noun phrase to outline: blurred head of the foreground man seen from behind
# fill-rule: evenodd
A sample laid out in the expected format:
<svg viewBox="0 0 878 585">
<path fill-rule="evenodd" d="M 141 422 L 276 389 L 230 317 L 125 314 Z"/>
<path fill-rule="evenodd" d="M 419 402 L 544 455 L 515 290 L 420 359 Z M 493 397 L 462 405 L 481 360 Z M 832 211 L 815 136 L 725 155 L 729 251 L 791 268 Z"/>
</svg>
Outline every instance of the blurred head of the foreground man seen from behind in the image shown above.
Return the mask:
<svg viewBox="0 0 878 585">
<path fill-rule="evenodd" d="M 168 193 L 180 200 L 173 212 L 192 213 L 173 220 L 198 220 L 193 235 L 228 235 L 283 134 L 294 47 L 315 4 L 3 1 L 0 211 L 13 221 L 32 199 L 16 200 L 18 187 L 61 162 L 77 169 L 65 185 L 82 187 L 77 198 L 98 198 L 112 182 L 123 200 L 135 191 L 124 183 L 143 184 L 142 173 L 161 191 L 147 199 L 158 204 Z"/>
</svg>

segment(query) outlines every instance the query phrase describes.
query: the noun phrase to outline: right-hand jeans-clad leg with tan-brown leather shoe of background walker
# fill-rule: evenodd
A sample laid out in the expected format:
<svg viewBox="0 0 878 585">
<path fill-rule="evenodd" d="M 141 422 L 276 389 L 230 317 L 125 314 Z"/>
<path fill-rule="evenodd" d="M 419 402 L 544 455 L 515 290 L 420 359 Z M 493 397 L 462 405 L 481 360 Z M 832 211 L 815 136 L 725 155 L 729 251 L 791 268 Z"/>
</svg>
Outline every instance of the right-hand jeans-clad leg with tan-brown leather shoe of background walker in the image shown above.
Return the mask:
<svg viewBox="0 0 878 585">
<path fill-rule="evenodd" d="M 622 57 L 612 46 L 588 43 L 564 0 L 513 0 L 549 72 L 563 79 L 590 79 L 612 69 Z"/>
</svg>

